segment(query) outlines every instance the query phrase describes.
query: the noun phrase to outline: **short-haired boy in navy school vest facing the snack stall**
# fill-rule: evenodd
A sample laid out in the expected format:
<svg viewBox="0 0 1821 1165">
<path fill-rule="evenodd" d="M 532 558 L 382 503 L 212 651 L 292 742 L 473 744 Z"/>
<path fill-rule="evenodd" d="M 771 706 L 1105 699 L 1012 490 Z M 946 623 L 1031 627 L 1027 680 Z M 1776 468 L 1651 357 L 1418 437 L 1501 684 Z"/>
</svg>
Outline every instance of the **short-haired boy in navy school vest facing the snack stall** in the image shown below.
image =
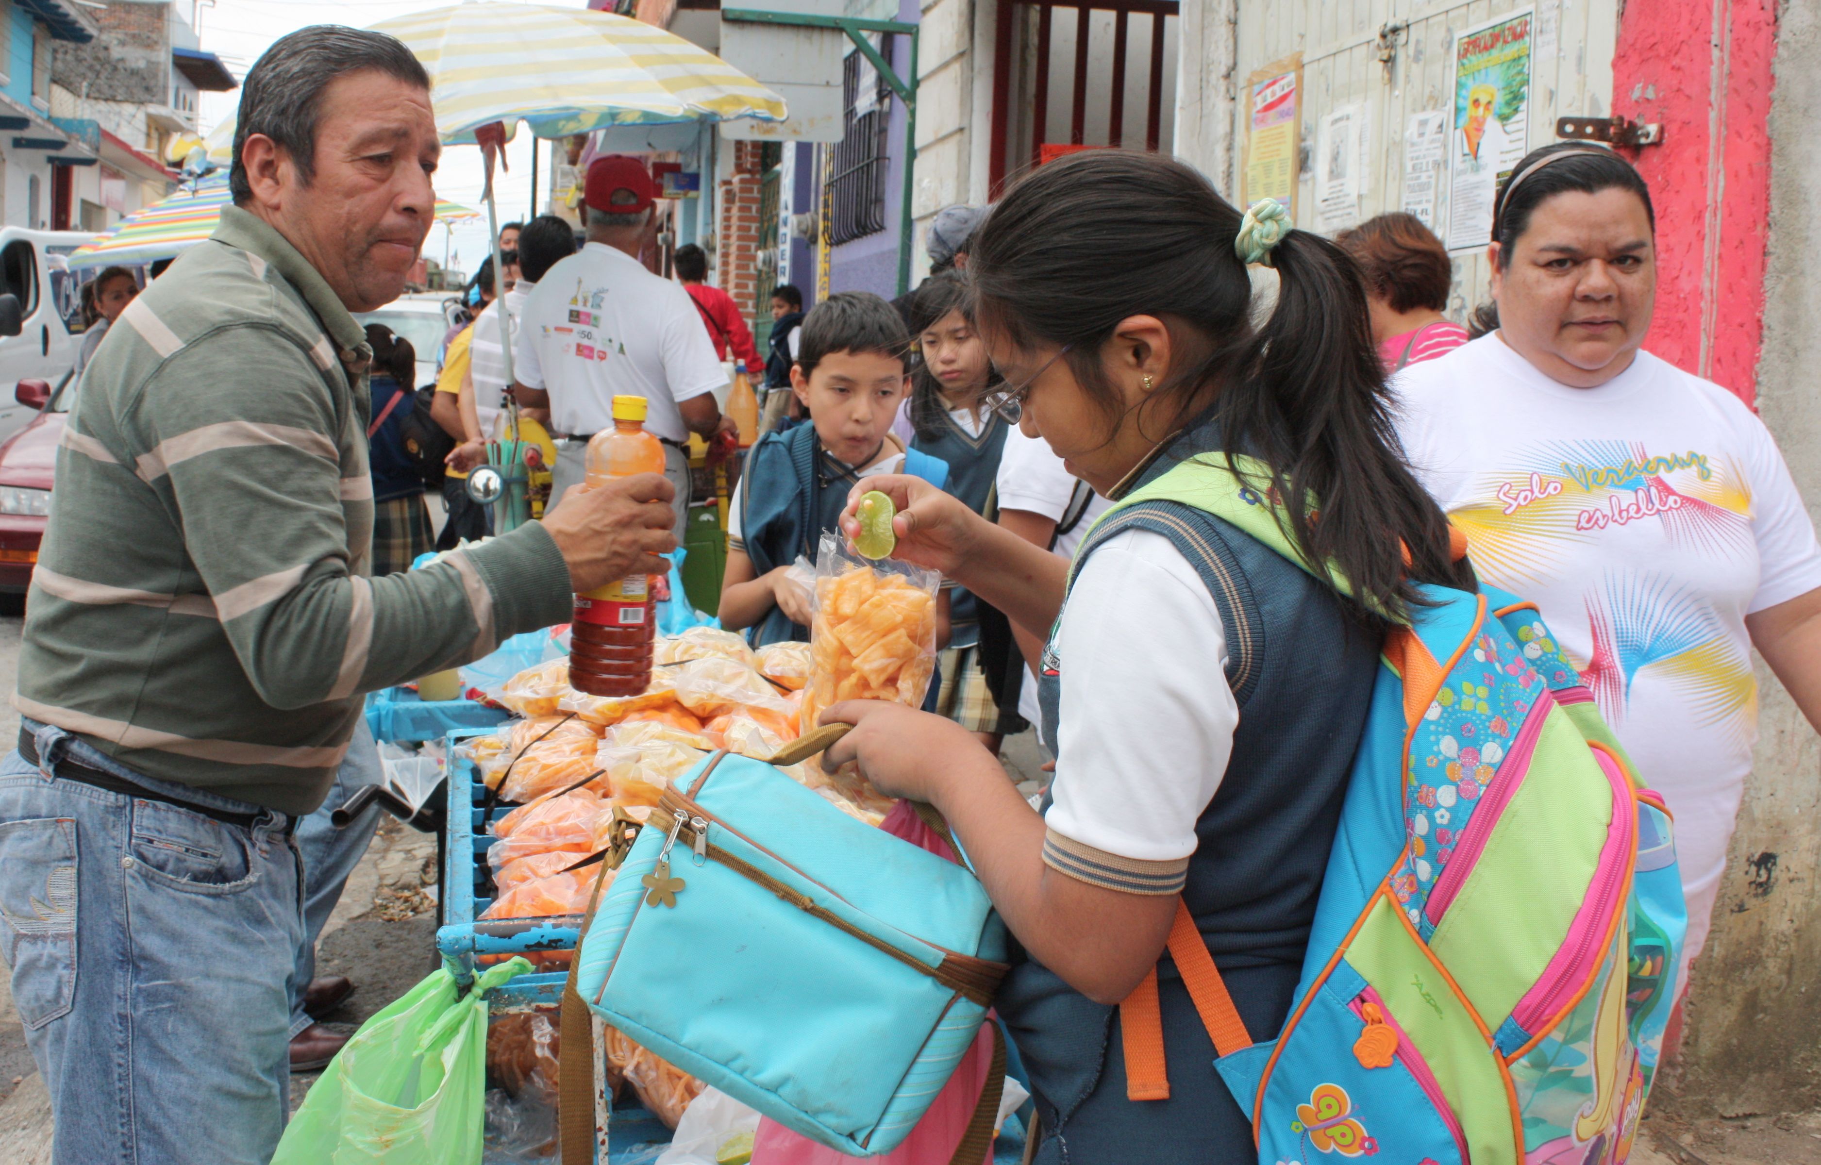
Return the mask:
<svg viewBox="0 0 1821 1165">
<path fill-rule="evenodd" d="M 830 295 L 803 319 L 790 388 L 812 424 L 761 437 L 728 506 L 721 626 L 747 630 L 754 646 L 809 639 L 810 590 L 790 566 L 814 566 L 854 482 L 910 473 L 941 488 L 949 479 L 947 462 L 905 450 L 890 431 L 909 391 L 909 350 L 903 319 L 878 295 Z M 938 641 L 947 639 L 945 608 Z"/>
</svg>

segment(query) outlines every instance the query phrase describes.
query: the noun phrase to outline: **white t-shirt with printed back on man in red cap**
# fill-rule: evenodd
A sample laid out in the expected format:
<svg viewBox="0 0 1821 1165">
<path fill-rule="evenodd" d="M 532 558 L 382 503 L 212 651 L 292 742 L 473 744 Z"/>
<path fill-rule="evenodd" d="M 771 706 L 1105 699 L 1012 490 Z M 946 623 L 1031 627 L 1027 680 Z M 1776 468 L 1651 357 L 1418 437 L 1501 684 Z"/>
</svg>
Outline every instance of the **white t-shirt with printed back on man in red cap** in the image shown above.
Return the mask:
<svg viewBox="0 0 1821 1165">
<path fill-rule="evenodd" d="M 727 384 L 683 284 L 601 242 L 537 280 L 512 355 L 519 384 L 550 393 L 557 433 L 612 428 L 614 397 L 636 395 L 650 402 L 646 431 L 681 442 L 688 430 L 677 402 Z"/>
</svg>

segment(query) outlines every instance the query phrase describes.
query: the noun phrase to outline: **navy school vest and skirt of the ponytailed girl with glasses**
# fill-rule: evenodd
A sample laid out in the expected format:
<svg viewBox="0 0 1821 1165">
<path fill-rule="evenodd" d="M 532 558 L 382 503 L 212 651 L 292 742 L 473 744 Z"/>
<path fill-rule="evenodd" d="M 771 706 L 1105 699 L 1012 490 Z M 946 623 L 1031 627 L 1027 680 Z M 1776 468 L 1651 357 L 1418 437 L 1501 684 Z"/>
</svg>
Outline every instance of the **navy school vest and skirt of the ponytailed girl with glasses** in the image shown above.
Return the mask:
<svg viewBox="0 0 1821 1165">
<path fill-rule="evenodd" d="M 1211 424 L 1178 439 L 1145 473 L 1220 448 Z M 1220 612 L 1226 679 L 1240 708 L 1233 755 L 1195 832 L 1182 897 L 1253 1039 L 1289 1012 L 1353 752 L 1366 724 L 1378 635 L 1275 550 L 1175 502 L 1111 515 L 1076 562 L 1125 530 L 1167 537 Z M 1043 653 L 1038 695 L 1054 752 L 1062 668 Z M 1209 661 L 1209 668 L 1215 661 Z M 1073 990 L 1034 961 L 1012 968 L 998 1008 L 1023 1056 L 1043 1121 L 1045 1165 L 1222 1165 L 1255 1161 L 1251 1118 L 1213 1069 L 1215 1047 L 1165 956 L 1158 967 L 1171 1098 L 1125 1098 L 1118 1010 Z"/>
</svg>

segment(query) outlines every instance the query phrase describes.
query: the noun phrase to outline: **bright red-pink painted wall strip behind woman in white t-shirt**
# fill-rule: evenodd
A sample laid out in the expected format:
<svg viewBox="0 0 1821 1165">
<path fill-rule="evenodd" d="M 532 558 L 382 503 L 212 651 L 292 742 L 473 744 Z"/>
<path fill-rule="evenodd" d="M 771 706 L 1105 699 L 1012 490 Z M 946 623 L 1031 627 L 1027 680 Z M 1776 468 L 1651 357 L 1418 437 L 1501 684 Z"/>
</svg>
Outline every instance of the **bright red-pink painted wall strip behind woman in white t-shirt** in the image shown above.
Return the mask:
<svg viewBox="0 0 1821 1165">
<path fill-rule="evenodd" d="M 1775 0 L 1632 0 L 1613 113 L 1663 126 L 1633 153 L 1657 209 L 1657 315 L 1646 348 L 1755 395 L 1770 213 Z"/>
</svg>

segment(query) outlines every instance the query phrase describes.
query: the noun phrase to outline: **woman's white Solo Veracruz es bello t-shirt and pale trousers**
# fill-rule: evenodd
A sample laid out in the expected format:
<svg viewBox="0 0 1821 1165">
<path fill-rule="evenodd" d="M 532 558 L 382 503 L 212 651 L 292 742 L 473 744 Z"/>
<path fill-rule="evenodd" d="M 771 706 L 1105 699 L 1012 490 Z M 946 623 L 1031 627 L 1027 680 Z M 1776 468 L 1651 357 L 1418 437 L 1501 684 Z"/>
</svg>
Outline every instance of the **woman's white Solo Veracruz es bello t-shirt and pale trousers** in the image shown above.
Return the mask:
<svg viewBox="0 0 1821 1165">
<path fill-rule="evenodd" d="M 1393 386 L 1411 466 L 1480 577 L 1537 603 L 1668 801 L 1694 957 L 1757 735 L 1745 617 L 1821 586 L 1783 455 L 1737 397 L 1648 351 L 1570 388 L 1493 333 Z"/>
</svg>

